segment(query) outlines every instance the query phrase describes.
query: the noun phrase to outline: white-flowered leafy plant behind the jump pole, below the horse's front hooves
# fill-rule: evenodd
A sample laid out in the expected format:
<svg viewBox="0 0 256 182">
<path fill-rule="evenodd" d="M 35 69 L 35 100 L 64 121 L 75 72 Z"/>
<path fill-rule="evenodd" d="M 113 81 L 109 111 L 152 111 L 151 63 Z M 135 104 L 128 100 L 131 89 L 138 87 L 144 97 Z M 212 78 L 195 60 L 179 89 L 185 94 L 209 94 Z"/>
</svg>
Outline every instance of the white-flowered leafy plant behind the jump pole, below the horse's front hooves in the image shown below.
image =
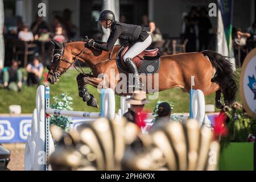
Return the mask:
<svg viewBox="0 0 256 182">
<path fill-rule="evenodd" d="M 73 104 L 73 102 L 71 102 L 73 98 L 68 95 L 69 95 L 68 93 L 62 93 L 60 98 L 57 96 L 52 97 L 54 103 L 51 104 L 50 107 L 52 109 L 59 109 L 59 110 L 73 110 L 73 108 L 70 106 Z M 71 126 L 72 123 L 73 122 L 71 117 L 65 117 L 62 115 L 51 115 L 51 118 L 50 118 L 50 125 L 59 126 L 65 132 L 68 132 L 69 127 Z"/>
</svg>

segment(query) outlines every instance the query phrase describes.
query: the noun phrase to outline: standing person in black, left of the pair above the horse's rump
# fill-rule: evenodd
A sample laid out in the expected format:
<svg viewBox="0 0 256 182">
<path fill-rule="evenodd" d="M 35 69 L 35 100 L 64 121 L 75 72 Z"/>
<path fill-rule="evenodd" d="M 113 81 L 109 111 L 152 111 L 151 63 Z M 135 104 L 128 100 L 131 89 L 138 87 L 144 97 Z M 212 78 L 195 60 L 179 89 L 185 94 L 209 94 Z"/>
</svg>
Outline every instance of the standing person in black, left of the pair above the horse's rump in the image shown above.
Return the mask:
<svg viewBox="0 0 256 182">
<path fill-rule="evenodd" d="M 189 14 L 185 16 L 184 39 L 188 39 L 186 46 L 187 52 L 196 52 L 196 26 L 198 24 L 197 7 L 192 6 Z"/>
</svg>

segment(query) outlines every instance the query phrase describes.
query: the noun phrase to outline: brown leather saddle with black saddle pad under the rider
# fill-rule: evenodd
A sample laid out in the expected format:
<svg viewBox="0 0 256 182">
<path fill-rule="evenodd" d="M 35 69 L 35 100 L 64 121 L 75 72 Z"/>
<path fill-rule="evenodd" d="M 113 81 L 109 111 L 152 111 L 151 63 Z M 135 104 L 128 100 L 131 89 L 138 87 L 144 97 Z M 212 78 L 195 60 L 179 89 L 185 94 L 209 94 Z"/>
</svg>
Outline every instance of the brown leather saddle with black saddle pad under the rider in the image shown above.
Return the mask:
<svg viewBox="0 0 256 182">
<path fill-rule="evenodd" d="M 125 65 L 125 61 L 123 60 L 123 55 L 128 51 L 130 48 L 129 45 L 124 44 L 121 46 L 117 53 L 117 67 L 121 69 L 121 71 L 128 73 L 129 70 Z M 133 62 L 135 63 L 138 72 L 144 74 L 154 74 L 158 72 L 159 65 L 160 65 L 160 54 L 159 49 L 151 49 L 151 50 L 144 50 L 139 55 L 133 58 Z"/>
</svg>

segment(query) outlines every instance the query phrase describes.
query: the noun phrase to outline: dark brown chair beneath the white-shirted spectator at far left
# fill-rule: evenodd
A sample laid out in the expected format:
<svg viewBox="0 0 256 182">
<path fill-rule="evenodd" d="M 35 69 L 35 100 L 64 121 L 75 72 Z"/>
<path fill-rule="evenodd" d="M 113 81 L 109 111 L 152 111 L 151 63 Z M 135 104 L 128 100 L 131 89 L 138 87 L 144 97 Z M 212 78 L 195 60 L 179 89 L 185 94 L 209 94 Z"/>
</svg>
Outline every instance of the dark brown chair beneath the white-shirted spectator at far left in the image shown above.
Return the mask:
<svg viewBox="0 0 256 182">
<path fill-rule="evenodd" d="M 32 48 L 36 48 L 37 45 L 32 42 L 24 42 L 22 40 L 16 40 L 13 46 L 13 55 L 15 55 L 16 59 L 18 59 L 19 55 L 24 55 L 24 67 L 26 67 L 28 63 L 28 56 L 34 55 L 35 50 Z"/>
</svg>

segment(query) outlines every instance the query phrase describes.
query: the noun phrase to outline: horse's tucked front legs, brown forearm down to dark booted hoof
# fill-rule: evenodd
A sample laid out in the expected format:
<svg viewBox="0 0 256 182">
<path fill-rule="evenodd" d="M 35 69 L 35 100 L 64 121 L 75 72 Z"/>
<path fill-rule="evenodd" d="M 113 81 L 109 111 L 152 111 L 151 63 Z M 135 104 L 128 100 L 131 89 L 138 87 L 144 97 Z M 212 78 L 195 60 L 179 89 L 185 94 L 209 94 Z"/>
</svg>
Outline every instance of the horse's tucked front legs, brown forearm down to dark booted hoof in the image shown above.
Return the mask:
<svg viewBox="0 0 256 182">
<path fill-rule="evenodd" d="M 102 82 L 102 79 L 95 78 L 93 77 L 93 75 L 83 75 L 80 73 L 76 77 L 76 80 L 77 80 L 77 86 L 79 90 L 79 97 L 82 97 L 82 100 L 86 102 L 88 106 L 98 108 L 98 102 L 96 98 L 94 98 L 93 94 L 90 94 L 88 92 L 88 89 L 86 88 L 86 84 L 90 84 L 97 88 L 97 85 L 99 85 L 100 82 Z"/>
</svg>

